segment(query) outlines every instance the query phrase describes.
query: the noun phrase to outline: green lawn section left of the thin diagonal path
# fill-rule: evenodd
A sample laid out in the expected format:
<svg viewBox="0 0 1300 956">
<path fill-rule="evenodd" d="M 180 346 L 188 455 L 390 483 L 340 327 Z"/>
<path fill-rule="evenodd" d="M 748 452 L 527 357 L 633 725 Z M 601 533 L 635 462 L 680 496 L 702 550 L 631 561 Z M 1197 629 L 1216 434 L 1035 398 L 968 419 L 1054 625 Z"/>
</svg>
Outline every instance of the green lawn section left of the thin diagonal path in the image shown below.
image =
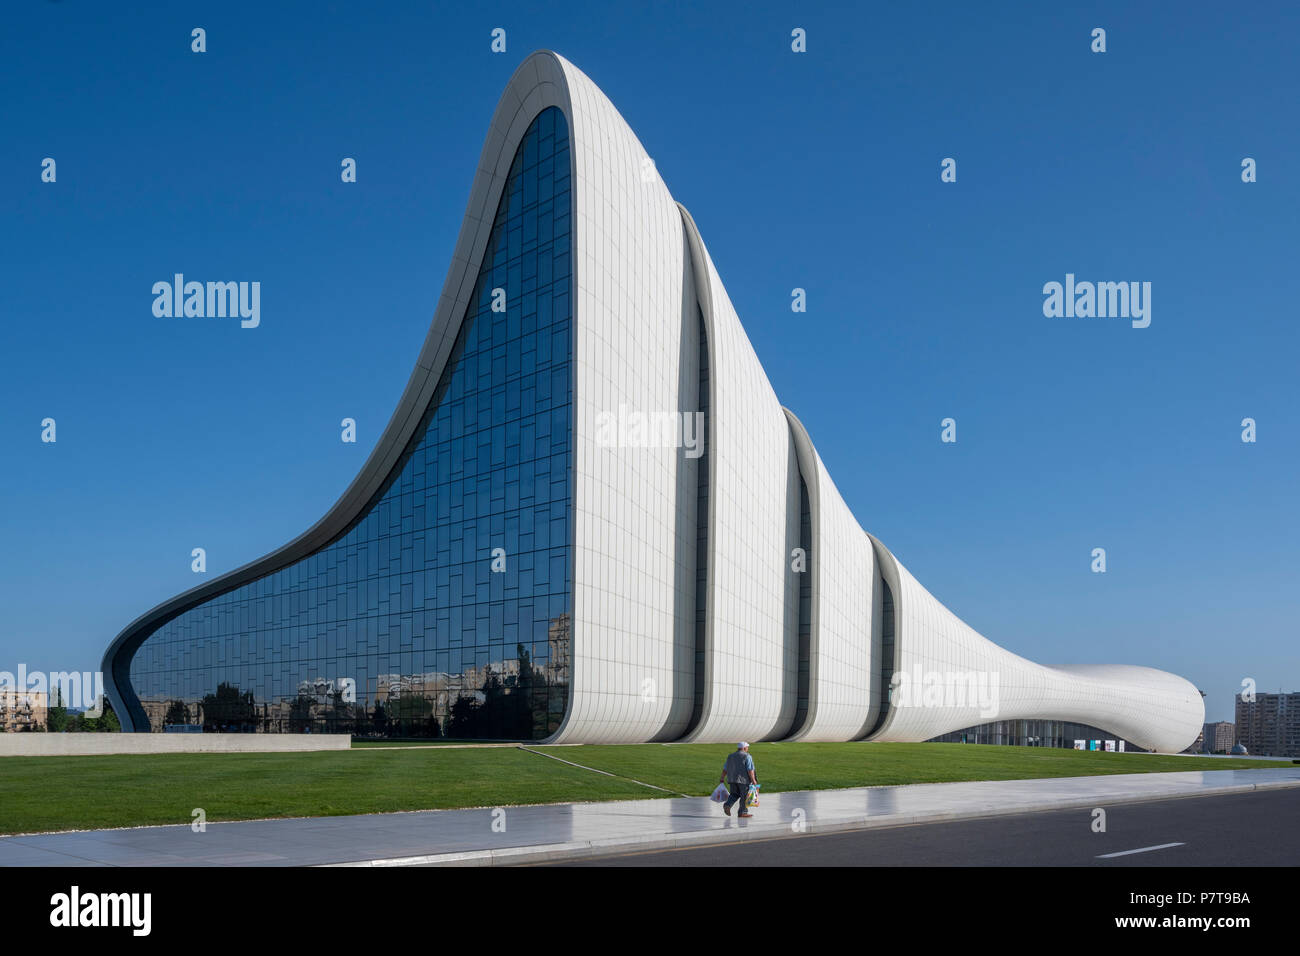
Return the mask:
<svg viewBox="0 0 1300 956">
<path fill-rule="evenodd" d="M 0 832 L 644 797 L 510 748 L 0 757 Z"/>
</svg>

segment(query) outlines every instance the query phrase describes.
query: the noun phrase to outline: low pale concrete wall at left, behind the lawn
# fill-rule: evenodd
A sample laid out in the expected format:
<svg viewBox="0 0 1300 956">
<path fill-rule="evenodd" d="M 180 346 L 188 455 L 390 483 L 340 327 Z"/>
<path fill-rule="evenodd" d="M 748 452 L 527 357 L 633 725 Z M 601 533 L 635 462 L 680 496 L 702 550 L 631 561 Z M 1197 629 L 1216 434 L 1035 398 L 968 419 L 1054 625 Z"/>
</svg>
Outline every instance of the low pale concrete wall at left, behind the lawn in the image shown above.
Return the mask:
<svg viewBox="0 0 1300 956">
<path fill-rule="evenodd" d="M 0 757 L 346 750 L 347 734 L 0 734 Z"/>
</svg>

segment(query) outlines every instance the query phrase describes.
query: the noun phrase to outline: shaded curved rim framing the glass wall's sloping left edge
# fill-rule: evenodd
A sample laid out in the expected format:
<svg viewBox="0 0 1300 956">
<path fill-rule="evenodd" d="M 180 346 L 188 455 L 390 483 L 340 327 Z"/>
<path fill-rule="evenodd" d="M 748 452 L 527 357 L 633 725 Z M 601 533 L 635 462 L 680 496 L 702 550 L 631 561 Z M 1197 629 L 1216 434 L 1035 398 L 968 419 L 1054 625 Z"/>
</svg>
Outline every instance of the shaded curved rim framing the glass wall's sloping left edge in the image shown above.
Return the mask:
<svg viewBox="0 0 1300 956">
<path fill-rule="evenodd" d="M 564 75 L 566 65 L 558 53 L 549 49 L 538 51 L 519 65 L 506 85 L 478 157 L 465 215 L 460 222 L 460 234 L 429 324 L 429 334 L 424 339 L 396 410 L 369 458 L 365 459 L 365 464 L 361 466 L 361 471 L 343 494 L 324 518 L 289 544 L 164 601 L 127 624 L 108 645 L 100 665 L 104 671 L 104 693 L 113 705 L 124 731 L 144 730 L 147 723 L 144 710 L 130 684 L 131 659 L 140 644 L 160 627 L 204 601 L 274 574 L 328 548 L 346 535 L 384 493 L 416 436 L 429 402 L 434 398 L 447 358 L 460 332 L 519 142 L 533 118 L 547 107 L 559 107 L 564 112 L 572 135 L 572 104 Z M 573 161 L 571 151 L 571 173 Z M 576 261 L 573 284 L 577 285 Z"/>
</svg>

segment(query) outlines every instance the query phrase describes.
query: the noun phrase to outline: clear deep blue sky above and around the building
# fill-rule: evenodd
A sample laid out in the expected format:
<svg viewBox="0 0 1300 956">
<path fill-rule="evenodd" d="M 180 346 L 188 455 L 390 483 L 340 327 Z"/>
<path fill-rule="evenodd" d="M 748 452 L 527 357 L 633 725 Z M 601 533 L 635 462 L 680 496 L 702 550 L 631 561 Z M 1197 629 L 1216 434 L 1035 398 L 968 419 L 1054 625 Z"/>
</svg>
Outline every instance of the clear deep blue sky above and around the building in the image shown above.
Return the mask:
<svg viewBox="0 0 1300 956">
<path fill-rule="evenodd" d="M 1294 4 L 131 7 L 10 4 L 0 33 L 0 670 L 98 669 L 198 583 L 191 548 L 212 576 L 325 512 L 406 384 L 497 98 L 551 48 L 941 601 L 1044 663 L 1182 674 L 1208 719 L 1247 676 L 1300 689 Z M 260 281 L 261 326 L 153 317 L 176 272 Z M 1044 317 L 1067 272 L 1152 282 L 1150 328 Z"/>
</svg>

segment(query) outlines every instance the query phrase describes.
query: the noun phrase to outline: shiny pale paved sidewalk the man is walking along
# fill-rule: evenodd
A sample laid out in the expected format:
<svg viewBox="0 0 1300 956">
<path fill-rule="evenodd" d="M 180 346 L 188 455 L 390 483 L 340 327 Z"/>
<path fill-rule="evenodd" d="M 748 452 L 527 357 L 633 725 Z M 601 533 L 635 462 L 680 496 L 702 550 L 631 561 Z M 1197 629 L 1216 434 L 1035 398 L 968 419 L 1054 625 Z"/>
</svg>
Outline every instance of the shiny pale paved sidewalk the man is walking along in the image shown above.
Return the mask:
<svg viewBox="0 0 1300 956">
<path fill-rule="evenodd" d="M 751 819 L 673 797 L 91 830 L 0 838 L 0 865 L 499 866 L 1279 787 L 1300 787 L 1300 766 L 792 791 Z"/>
</svg>

